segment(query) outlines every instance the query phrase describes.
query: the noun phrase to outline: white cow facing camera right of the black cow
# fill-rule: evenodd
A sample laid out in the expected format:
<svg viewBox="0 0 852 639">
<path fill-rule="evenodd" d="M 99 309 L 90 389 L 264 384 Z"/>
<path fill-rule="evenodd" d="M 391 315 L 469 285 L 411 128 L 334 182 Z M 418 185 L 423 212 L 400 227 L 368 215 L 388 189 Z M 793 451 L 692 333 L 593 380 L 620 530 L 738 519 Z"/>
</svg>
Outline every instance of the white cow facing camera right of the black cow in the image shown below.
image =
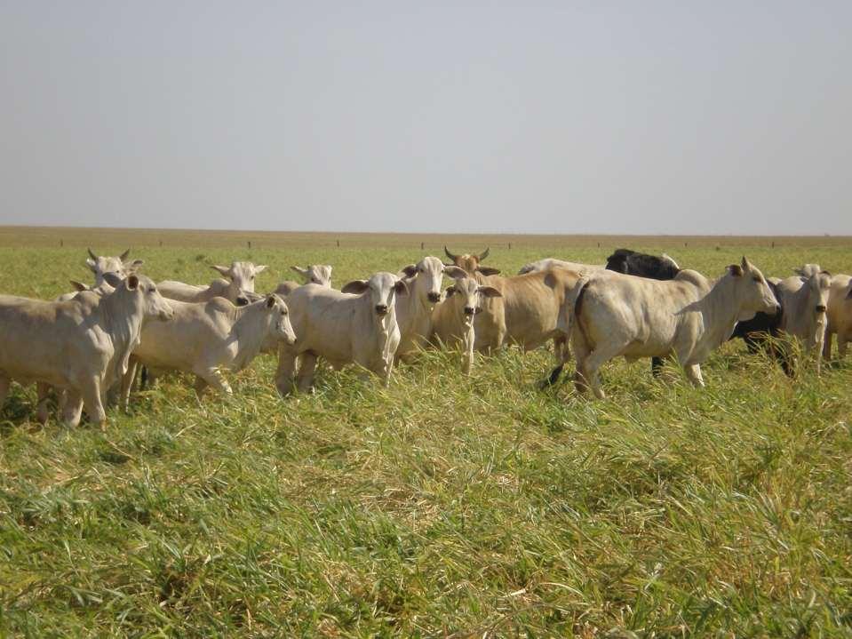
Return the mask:
<svg viewBox="0 0 852 639">
<path fill-rule="evenodd" d="M 799 276 L 783 280 L 769 278 L 776 285 L 778 303 L 784 312 L 779 328 L 786 335 L 800 340 L 806 353 L 815 351 L 816 374 L 820 373 L 820 357 L 824 348 L 826 310 L 832 288 L 832 274 L 818 264 L 806 264 L 796 269 Z"/>
</svg>

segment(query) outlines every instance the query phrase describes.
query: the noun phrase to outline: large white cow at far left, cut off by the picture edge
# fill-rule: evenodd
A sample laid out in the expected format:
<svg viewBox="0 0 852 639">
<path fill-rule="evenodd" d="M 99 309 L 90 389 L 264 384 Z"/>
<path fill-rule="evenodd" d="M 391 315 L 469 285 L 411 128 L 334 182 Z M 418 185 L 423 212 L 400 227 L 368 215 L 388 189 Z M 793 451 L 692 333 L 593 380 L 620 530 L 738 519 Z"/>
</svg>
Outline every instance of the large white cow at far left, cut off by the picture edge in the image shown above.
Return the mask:
<svg viewBox="0 0 852 639">
<path fill-rule="evenodd" d="M 127 371 L 143 324 L 174 314 L 147 277 L 116 284 L 107 295 L 81 292 L 63 302 L 0 296 L 0 404 L 12 379 L 35 381 L 63 393 L 64 423 L 76 426 L 85 405 L 103 425 L 101 393 Z"/>
</svg>

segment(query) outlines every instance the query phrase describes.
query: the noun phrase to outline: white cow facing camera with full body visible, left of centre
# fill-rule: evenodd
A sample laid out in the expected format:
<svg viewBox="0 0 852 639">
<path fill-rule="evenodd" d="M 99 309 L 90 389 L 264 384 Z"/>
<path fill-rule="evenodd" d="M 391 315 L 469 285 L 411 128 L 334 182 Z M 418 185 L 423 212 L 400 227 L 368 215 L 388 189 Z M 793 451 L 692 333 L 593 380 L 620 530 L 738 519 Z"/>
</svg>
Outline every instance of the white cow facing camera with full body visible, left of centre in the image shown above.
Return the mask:
<svg viewBox="0 0 852 639">
<path fill-rule="evenodd" d="M 354 280 L 342 291 L 305 284 L 291 292 L 287 306 L 299 339 L 279 345 L 278 391 L 290 395 L 310 390 L 318 357 L 335 370 L 354 363 L 380 375 L 387 385 L 400 341 L 396 297 L 407 292 L 406 284 L 391 273 Z"/>
</svg>

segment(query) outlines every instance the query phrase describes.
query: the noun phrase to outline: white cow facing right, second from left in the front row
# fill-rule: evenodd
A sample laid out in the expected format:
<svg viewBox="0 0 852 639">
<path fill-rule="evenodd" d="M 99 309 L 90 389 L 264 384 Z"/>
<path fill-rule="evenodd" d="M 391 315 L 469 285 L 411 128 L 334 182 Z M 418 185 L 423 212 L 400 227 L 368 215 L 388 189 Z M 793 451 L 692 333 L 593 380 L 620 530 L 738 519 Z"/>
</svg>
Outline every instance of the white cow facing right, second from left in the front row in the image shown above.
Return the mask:
<svg viewBox="0 0 852 639">
<path fill-rule="evenodd" d="M 174 319 L 149 323 L 124 375 L 122 403 L 126 409 L 139 364 L 155 371 L 195 374 L 199 399 L 209 386 L 231 394 L 221 369 L 242 371 L 260 352 L 265 339 L 293 345 L 296 336 L 287 305 L 277 295 L 236 307 L 221 297 L 207 302 L 171 302 Z"/>
</svg>

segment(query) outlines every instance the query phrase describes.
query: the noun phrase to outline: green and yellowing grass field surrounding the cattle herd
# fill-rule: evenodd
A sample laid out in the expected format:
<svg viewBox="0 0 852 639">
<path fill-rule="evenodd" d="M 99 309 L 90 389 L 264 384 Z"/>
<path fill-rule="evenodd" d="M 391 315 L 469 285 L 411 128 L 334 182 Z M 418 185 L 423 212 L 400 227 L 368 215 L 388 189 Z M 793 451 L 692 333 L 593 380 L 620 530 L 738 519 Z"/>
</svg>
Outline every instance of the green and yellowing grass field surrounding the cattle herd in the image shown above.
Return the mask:
<svg viewBox="0 0 852 639">
<path fill-rule="evenodd" d="M 623 244 L 708 276 L 744 253 L 767 276 L 852 272 L 835 237 L 0 228 L 0 292 L 90 281 L 87 245 L 198 283 L 253 260 L 264 291 L 291 264 L 330 263 L 340 286 L 444 242 L 491 244 L 507 273 Z M 791 380 L 729 344 L 704 390 L 617 361 L 605 401 L 537 391 L 550 363 L 508 349 L 466 378 L 457 354 L 429 352 L 387 389 L 322 371 L 314 396 L 283 401 L 261 357 L 233 400 L 202 408 L 188 379 L 163 379 L 131 415 L 107 411 L 106 433 L 37 425 L 16 387 L 0 635 L 852 635 L 852 361 Z"/>
</svg>

